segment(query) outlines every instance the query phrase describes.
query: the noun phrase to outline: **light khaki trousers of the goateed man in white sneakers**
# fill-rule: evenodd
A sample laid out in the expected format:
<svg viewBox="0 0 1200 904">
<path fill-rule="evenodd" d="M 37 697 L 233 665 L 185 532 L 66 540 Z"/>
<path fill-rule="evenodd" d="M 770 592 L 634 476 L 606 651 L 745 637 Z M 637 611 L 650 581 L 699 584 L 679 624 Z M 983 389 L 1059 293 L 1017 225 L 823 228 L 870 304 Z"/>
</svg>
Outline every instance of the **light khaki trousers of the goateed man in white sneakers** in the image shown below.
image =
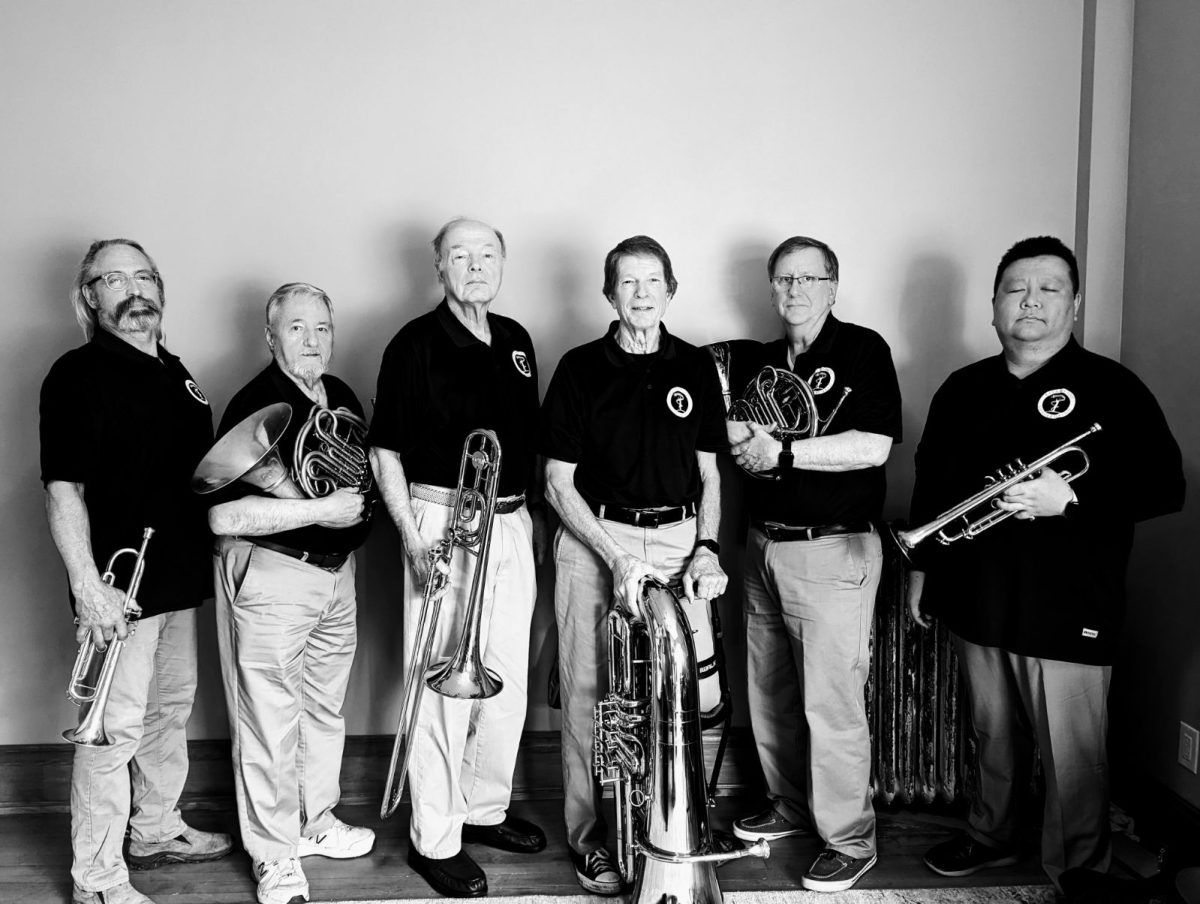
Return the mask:
<svg viewBox="0 0 1200 904">
<path fill-rule="evenodd" d="M 341 800 L 342 702 L 358 642 L 354 556 L 336 571 L 217 543 L 221 678 L 238 822 L 254 863 L 296 856 Z"/>
</svg>

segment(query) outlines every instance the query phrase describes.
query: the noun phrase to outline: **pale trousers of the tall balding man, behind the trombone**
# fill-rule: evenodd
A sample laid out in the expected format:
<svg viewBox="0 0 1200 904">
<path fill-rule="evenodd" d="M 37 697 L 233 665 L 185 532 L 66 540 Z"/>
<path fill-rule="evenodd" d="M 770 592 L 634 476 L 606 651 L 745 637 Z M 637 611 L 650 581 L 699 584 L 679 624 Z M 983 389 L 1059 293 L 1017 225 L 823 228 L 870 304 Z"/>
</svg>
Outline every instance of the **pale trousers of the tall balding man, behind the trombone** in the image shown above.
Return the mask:
<svg viewBox="0 0 1200 904">
<path fill-rule="evenodd" d="M 421 538 L 428 543 L 443 539 L 450 526 L 450 507 L 416 498 L 412 504 Z M 458 645 L 474 571 L 475 556 L 456 549 L 450 587 L 434 629 L 431 664 L 451 655 Z M 529 682 L 529 622 L 536 598 L 533 529 L 524 507 L 496 515 L 482 586 L 484 665 L 500 677 L 504 689 L 490 700 L 452 700 L 426 690 L 412 740 L 409 834 L 420 854 L 438 860 L 458 852 L 463 822 L 503 822 L 512 796 Z M 424 594 L 425 587 L 406 558 L 406 675 Z"/>
</svg>

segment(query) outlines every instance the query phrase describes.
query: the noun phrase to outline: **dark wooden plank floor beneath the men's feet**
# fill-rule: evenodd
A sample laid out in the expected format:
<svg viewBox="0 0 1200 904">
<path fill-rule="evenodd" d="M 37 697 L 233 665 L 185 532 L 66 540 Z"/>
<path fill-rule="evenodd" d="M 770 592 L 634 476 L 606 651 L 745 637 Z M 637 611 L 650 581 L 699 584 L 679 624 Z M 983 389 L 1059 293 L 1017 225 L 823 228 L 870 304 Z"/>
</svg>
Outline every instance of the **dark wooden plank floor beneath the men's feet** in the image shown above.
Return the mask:
<svg viewBox="0 0 1200 904">
<path fill-rule="evenodd" d="M 716 828 L 755 808 L 757 801 L 720 798 L 713 818 Z M 469 846 L 487 873 L 492 897 L 511 894 L 580 894 L 566 855 L 560 800 L 515 801 L 514 814 L 532 819 L 546 831 L 550 845 L 533 856 Z M 307 857 L 304 861 L 312 900 L 354 900 L 436 897 L 428 885 L 406 863 L 408 818 L 398 813 L 380 822 L 376 806 L 347 806 L 338 815 L 366 825 L 378 833 L 374 851 L 359 860 L 337 861 Z M 233 832 L 236 814 L 228 810 L 191 809 L 188 822 L 209 830 Z M 966 880 L 946 880 L 931 873 L 920 855 L 948 837 L 961 822 L 922 813 L 881 813 L 880 862 L 859 882 L 863 888 L 954 887 L 982 885 L 1044 885 L 1045 875 L 1036 852 L 1015 867 L 988 870 Z M 0 902 L 64 904 L 71 898 L 70 820 L 66 814 L 0 818 Z M 787 838 L 772 844 L 769 860 L 745 858 L 722 867 L 721 888 L 767 891 L 799 887 L 800 875 L 818 852 L 812 839 Z M 238 850 L 215 863 L 174 864 L 149 873 L 134 873 L 133 884 L 158 904 L 245 904 L 254 900 L 250 860 Z M 599 900 L 599 899 L 598 899 Z"/>
</svg>

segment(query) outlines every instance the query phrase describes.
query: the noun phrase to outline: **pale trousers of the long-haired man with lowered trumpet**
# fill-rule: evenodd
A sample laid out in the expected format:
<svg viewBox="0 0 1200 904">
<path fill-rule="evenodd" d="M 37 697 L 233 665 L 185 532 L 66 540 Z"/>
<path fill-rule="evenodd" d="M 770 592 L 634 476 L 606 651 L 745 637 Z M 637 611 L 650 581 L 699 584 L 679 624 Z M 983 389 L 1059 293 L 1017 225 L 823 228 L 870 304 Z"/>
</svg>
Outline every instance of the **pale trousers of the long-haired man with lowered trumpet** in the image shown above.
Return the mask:
<svg viewBox="0 0 1200 904">
<path fill-rule="evenodd" d="M 184 729 L 194 696 L 196 610 L 143 618 L 125 641 L 104 710 L 112 744 L 77 747 L 71 768 L 71 878 L 80 888 L 128 881 L 126 824 L 137 842 L 184 831 Z"/>
</svg>

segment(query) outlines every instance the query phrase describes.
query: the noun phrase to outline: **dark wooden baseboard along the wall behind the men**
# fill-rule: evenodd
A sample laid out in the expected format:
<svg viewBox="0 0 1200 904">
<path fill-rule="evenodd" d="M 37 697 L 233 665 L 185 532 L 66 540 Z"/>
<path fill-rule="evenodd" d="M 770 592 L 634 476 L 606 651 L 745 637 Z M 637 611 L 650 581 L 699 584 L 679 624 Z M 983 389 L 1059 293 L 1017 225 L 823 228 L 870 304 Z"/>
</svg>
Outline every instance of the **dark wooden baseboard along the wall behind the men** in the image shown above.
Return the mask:
<svg viewBox="0 0 1200 904">
<path fill-rule="evenodd" d="M 720 732 L 704 732 L 704 762 L 713 762 Z M 342 802 L 378 803 L 388 776 L 392 738 L 359 735 L 346 738 L 342 756 Z M 180 806 L 185 809 L 228 807 L 233 801 L 229 741 L 190 741 L 191 760 Z M 0 746 L 0 815 L 65 813 L 71 798 L 70 744 Z M 762 772 L 750 730 L 730 729 L 718 795 L 761 789 Z M 527 731 L 514 773 L 512 796 L 553 798 L 563 796 L 563 768 L 557 731 Z"/>
</svg>

